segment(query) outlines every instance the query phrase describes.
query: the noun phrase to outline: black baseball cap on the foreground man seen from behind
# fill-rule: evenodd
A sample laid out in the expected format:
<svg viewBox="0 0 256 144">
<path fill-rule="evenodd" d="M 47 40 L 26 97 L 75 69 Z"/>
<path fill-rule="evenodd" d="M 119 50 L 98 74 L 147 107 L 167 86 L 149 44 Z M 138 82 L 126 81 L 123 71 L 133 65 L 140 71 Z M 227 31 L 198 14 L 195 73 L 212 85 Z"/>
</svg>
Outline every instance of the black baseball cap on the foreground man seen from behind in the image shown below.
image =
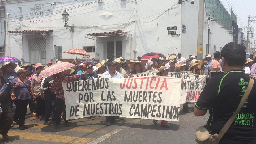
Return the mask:
<svg viewBox="0 0 256 144">
<path fill-rule="evenodd" d="M 245 58 L 246 51 L 240 44 L 230 42 L 226 44 L 221 50 L 221 56 L 225 59 L 240 59 Z"/>
</svg>

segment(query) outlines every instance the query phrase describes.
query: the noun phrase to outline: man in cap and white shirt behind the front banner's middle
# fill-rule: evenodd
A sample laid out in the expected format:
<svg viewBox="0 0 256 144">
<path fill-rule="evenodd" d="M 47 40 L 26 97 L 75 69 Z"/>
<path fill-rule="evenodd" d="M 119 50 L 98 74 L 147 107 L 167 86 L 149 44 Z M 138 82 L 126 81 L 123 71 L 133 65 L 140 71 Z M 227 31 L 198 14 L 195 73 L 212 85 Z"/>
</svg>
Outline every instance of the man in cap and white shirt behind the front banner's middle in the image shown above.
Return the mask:
<svg viewBox="0 0 256 144">
<path fill-rule="evenodd" d="M 109 62 L 108 63 L 109 70 L 102 74 L 102 78 L 124 78 L 122 74 L 116 71 L 116 63 Z M 106 126 L 110 126 L 111 123 L 115 123 L 116 118 L 115 116 L 106 116 Z"/>
</svg>

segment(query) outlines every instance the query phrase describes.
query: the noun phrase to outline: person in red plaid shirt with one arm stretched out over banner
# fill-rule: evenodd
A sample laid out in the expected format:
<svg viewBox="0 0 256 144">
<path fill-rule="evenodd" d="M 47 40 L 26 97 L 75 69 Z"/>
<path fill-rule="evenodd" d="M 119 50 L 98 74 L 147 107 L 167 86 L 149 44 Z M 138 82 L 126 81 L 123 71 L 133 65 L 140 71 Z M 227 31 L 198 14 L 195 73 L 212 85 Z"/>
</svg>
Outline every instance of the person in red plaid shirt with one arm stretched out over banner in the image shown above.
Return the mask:
<svg viewBox="0 0 256 144">
<path fill-rule="evenodd" d="M 63 117 L 64 117 L 64 125 L 68 125 L 68 121 L 66 120 L 66 105 L 65 105 L 65 97 L 64 97 L 64 89 L 62 87 L 62 82 L 71 82 L 71 81 L 76 81 L 79 77 L 82 75 L 88 74 L 86 72 L 83 72 L 82 74 L 76 74 L 72 76 L 65 76 L 64 72 L 60 72 L 56 74 L 55 76 L 57 77 L 51 86 L 51 91 L 55 93 L 56 95 L 56 102 L 55 102 L 55 129 L 60 129 L 60 116 L 61 112 L 63 112 Z"/>
</svg>

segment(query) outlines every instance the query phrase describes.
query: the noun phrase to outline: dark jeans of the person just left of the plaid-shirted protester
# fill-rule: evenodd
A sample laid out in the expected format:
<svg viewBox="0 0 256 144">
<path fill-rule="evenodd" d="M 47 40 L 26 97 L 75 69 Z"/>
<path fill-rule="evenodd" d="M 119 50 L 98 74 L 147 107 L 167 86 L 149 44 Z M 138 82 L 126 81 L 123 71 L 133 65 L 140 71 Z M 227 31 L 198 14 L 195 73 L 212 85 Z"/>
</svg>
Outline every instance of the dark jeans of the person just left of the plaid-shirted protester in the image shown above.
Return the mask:
<svg viewBox="0 0 256 144">
<path fill-rule="evenodd" d="M 45 122 L 48 122 L 50 119 L 50 113 L 52 113 L 52 119 L 54 119 L 55 111 L 55 98 L 52 95 L 45 93 Z"/>
</svg>

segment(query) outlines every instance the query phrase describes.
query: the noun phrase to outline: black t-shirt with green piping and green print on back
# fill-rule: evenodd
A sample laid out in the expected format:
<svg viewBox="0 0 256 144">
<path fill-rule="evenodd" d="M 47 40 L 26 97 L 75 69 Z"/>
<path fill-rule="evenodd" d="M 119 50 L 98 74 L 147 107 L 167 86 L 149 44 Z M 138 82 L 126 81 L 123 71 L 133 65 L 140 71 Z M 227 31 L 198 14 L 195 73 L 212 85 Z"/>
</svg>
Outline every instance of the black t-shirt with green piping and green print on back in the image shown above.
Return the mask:
<svg viewBox="0 0 256 144">
<path fill-rule="evenodd" d="M 208 110 L 210 133 L 219 133 L 236 110 L 249 84 L 249 76 L 242 70 L 231 70 L 213 76 L 203 89 L 195 107 Z M 256 144 L 256 80 L 248 99 L 235 121 L 221 138 L 223 144 Z"/>
</svg>

